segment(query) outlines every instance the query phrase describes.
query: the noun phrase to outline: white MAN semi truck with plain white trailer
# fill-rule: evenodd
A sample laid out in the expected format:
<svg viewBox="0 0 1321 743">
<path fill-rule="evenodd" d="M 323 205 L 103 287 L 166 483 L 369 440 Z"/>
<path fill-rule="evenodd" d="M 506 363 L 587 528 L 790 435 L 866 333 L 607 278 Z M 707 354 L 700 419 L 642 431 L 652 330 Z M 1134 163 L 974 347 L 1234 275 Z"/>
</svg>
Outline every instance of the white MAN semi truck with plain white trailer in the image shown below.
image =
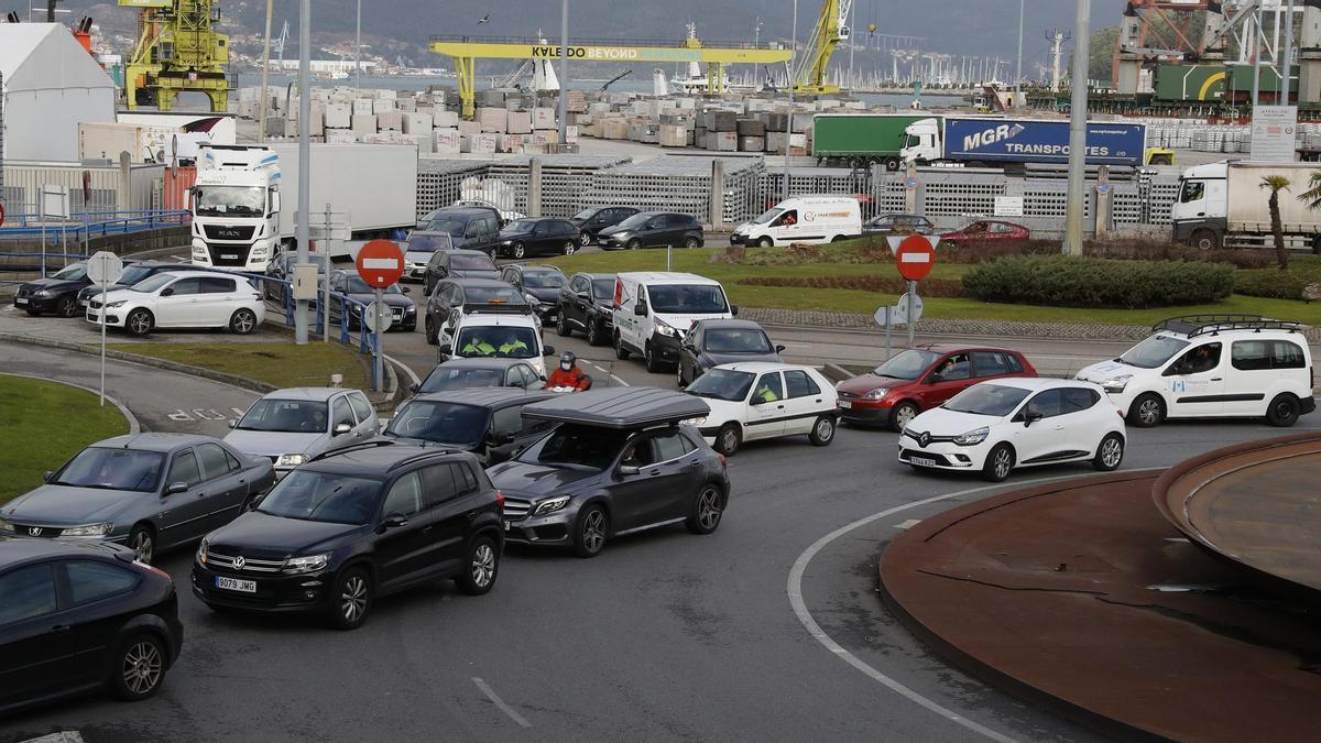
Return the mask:
<svg viewBox="0 0 1321 743">
<path fill-rule="evenodd" d="M 347 223 L 354 238 L 417 223 L 417 151 L 399 144 L 313 144 L 310 226 Z M 299 145 L 207 145 L 190 192 L 193 263 L 260 272 L 295 247 Z"/>
</svg>

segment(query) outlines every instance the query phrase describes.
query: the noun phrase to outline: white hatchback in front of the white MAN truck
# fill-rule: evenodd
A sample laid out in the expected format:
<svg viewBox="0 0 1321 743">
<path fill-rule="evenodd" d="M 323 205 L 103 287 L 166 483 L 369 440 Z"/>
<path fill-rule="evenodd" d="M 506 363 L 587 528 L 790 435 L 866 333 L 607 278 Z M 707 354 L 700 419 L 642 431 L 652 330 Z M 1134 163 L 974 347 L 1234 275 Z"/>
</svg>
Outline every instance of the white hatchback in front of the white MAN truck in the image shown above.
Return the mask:
<svg viewBox="0 0 1321 743">
<path fill-rule="evenodd" d="M 127 290 L 95 296 L 87 321 L 145 336 L 153 328 L 229 328 L 243 336 L 266 321 L 262 295 L 242 276 L 214 271 L 166 271 Z"/>
</svg>

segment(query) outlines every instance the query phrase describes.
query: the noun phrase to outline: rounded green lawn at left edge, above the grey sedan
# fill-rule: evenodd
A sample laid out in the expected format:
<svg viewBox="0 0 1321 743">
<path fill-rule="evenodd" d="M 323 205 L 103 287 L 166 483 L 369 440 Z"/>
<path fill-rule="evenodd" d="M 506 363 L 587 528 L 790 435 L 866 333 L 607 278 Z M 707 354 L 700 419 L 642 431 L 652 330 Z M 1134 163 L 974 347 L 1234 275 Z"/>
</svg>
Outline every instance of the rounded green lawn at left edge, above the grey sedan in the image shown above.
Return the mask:
<svg viewBox="0 0 1321 743">
<path fill-rule="evenodd" d="M 0 374 L 0 504 L 41 485 L 90 443 L 128 432 L 124 414 L 69 385 Z"/>
</svg>

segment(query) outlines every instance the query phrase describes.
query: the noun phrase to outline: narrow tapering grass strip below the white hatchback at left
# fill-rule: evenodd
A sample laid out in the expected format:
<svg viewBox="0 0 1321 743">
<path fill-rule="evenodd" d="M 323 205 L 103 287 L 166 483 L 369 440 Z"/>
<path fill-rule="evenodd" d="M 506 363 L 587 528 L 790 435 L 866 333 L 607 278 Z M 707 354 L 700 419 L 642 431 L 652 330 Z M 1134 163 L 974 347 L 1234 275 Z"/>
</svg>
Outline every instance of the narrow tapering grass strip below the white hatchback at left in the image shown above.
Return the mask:
<svg viewBox="0 0 1321 743">
<path fill-rule="evenodd" d="M 111 344 L 107 348 L 236 374 L 276 387 L 325 387 L 330 374 L 343 386 L 367 389 L 370 356 L 338 342 Z"/>
</svg>

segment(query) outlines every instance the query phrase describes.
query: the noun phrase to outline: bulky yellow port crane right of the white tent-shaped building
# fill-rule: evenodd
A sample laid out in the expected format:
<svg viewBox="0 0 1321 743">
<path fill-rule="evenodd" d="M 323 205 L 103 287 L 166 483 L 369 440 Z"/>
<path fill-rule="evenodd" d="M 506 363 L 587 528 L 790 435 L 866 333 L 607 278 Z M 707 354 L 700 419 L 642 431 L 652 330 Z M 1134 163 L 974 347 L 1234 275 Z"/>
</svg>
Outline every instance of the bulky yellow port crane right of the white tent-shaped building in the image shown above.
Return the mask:
<svg viewBox="0 0 1321 743">
<path fill-rule="evenodd" d="M 124 65 L 128 110 L 168 111 L 182 91 L 205 93 L 213 112 L 229 110 L 230 37 L 211 30 L 221 20 L 213 0 L 119 0 L 140 8 L 137 45 Z"/>
</svg>

